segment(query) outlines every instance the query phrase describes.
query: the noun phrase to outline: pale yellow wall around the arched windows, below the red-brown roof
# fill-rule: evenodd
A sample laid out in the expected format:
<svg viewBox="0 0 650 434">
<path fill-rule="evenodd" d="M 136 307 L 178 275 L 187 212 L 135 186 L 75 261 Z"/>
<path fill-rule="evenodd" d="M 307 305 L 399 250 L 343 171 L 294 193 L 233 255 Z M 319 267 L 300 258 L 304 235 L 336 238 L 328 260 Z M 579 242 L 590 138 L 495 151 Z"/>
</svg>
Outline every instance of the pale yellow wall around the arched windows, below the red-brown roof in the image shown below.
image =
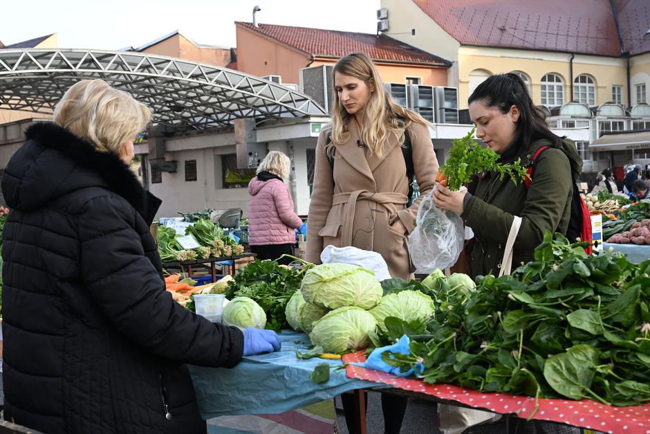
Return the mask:
<svg viewBox="0 0 650 434">
<path fill-rule="evenodd" d="M 530 79 L 533 101 L 541 105 L 541 79 L 547 73 L 557 73 L 564 80 L 564 102 L 573 100 L 570 95 L 570 54 L 541 51 L 510 50 L 462 46 L 458 51 L 459 89 L 462 108 L 467 108 L 470 96 L 472 71 L 485 70 L 491 74 L 521 71 Z M 650 64 L 649 64 L 650 65 Z M 573 79 L 580 74 L 591 75 L 595 82 L 595 105 L 612 100 L 612 85 L 623 87 L 623 104 L 627 105 L 626 60 L 616 57 L 575 55 Z"/>
</svg>

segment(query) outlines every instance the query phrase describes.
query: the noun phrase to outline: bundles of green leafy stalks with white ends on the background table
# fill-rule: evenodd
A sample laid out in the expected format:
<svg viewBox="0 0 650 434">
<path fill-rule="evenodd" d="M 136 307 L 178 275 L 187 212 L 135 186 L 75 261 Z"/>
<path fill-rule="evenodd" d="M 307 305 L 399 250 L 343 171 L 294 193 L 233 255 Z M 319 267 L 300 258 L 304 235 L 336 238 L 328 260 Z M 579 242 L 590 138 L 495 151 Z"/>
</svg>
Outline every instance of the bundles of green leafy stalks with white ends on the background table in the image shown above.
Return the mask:
<svg viewBox="0 0 650 434">
<path fill-rule="evenodd" d="M 158 251 L 160 251 L 160 260 L 163 262 L 241 255 L 244 251 L 241 244 L 229 235 L 225 235 L 223 229 L 209 219 L 198 219 L 192 226 L 185 229 L 185 235 L 194 236 L 196 242 L 200 244 L 198 248 L 192 250 L 185 250 L 178 244 L 176 241 L 178 234 L 174 228 L 159 226 L 157 233 Z"/>
</svg>

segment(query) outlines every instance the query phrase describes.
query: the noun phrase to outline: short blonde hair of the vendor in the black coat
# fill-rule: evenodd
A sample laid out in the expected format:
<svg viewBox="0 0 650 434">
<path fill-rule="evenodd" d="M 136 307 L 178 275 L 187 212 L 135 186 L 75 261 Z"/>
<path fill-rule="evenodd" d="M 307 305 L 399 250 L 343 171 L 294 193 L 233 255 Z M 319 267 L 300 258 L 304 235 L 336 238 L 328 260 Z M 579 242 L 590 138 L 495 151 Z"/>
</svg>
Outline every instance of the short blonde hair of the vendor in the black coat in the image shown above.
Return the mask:
<svg viewBox="0 0 650 434">
<path fill-rule="evenodd" d="M 143 132 L 151 111 L 128 93 L 103 80 L 73 85 L 54 109 L 54 122 L 101 152 L 120 155 L 124 143 Z"/>
</svg>

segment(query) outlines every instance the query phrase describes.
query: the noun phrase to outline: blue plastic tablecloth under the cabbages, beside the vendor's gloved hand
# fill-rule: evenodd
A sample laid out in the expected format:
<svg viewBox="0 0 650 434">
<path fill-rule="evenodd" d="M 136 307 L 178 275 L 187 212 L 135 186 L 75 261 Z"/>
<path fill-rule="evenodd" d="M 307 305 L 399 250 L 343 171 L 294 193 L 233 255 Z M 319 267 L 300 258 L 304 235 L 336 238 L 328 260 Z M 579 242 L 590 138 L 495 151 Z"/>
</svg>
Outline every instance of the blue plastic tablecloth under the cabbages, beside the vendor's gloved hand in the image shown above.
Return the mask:
<svg viewBox="0 0 650 434">
<path fill-rule="evenodd" d="M 304 333 L 285 330 L 280 340 L 281 351 L 246 356 L 232 369 L 190 366 L 201 417 L 283 413 L 348 390 L 389 387 L 349 379 L 340 360 L 297 359 L 295 350 L 304 351 L 310 345 Z M 309 375 L 319 363 L 330 363 L 340 369 L 330 370 L 327 383 L 316 384 Z"/>
</svg>

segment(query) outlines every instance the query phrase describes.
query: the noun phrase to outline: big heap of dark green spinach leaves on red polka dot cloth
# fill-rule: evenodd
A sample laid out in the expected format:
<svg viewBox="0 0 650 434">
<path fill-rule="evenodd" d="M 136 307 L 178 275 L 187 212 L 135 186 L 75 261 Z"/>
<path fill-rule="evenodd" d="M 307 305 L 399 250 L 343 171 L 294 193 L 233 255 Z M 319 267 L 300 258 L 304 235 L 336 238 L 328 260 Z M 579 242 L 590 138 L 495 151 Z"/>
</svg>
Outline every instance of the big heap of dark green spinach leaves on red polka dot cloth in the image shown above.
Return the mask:
<svg viewBox="0 0 650 434">
<path fill-rule="evenodd" d="M 650 402 L 650 260 L 586 255 L 584 246 L 547 232 L 534 261 L 510 276 L 479 277 L 465 305 L 438 307 L 425 327 L 387 320 L 391 337 L 402 327 L 413 338 L 410 354 L 382 359 L 404 370 L 424 363 L 419 377 L 427 383 Z"/>
</svg>

